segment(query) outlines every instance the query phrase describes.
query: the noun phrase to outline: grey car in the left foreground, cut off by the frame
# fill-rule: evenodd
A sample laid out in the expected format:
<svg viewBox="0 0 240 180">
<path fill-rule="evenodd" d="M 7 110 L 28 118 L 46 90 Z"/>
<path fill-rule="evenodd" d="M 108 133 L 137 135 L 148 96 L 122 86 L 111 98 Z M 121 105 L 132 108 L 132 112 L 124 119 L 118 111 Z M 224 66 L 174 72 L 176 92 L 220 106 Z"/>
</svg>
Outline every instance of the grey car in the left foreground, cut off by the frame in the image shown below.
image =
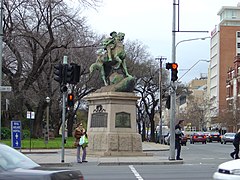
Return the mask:
<svg viewBox="0 0 240 180">
<path fill-rule="evenodd" d="M 0 180 L 83 180 L 79 170 L 41 167 L 19 151 L 0 143 Z"/>
</svg>

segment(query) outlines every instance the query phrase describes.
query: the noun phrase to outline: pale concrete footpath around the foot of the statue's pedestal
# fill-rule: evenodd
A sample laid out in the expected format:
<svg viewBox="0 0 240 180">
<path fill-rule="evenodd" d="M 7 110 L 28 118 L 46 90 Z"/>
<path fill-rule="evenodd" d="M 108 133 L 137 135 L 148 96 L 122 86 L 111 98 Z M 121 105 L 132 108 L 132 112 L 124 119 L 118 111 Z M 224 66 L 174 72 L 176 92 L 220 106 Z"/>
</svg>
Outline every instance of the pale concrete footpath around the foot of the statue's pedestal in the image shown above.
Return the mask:
<svg viewBox="0 0 240 180">
<path fill-rule="evenodd" d="M 167 145 L 143 142 L 142 146 L 145 154 L 143 156 L 98 156 L 87 154 L 87 161 L 97 165 L 183 164 L 182 160 L 168 160 L 166 156 L 154 155 L 153 151 L 168 151 L 169 146 Z M 73 166 L 77 164 L 76 149 L 64 149 L 64 162 L 62 162 L 61 149 L 32 149 L 31 152 L 29 150 L 22 150 L 21 152 L 43 166 Z"/>
</svg>

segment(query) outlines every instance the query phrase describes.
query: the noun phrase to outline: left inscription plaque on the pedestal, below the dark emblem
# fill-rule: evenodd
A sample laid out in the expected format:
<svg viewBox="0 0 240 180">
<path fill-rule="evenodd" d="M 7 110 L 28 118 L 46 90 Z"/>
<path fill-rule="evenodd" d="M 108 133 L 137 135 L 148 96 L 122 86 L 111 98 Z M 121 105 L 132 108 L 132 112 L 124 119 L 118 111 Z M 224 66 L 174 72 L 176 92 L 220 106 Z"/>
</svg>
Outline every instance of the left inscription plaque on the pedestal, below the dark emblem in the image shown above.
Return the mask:
<svg viewBox="0 0 240 180">
<path fill-rule="evenodd" d="M 91 128 L 107 127 L 107 116 L 108 113 L 104 112 L 93 113 L 91 119 Z"/>
</svg>

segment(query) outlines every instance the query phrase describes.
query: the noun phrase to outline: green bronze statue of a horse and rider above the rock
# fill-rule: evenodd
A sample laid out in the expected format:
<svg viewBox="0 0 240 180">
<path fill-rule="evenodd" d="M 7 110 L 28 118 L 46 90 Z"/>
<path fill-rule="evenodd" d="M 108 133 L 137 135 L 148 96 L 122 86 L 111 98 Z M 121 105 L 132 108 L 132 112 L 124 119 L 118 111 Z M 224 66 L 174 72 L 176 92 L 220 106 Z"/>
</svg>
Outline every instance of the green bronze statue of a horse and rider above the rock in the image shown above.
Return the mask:
<svg viewBox="0 0 240 180">
<path fill-rule="evenodd" d="M 110 85 L 109 77 L 113 70 L 121 69 L 126 77 L 132 77 L 128 73 L 125 62 L 126 52 L 123 45 L 125 34 L 119 32 L 116 35 L 115 31 L 111 34 L 115 36 L 106 39 L 105 48 L 97 51 L 97 60 L 90 66 L 90 73 L 95 70 L 100 71 L 105 86 Z"/>
</svg>

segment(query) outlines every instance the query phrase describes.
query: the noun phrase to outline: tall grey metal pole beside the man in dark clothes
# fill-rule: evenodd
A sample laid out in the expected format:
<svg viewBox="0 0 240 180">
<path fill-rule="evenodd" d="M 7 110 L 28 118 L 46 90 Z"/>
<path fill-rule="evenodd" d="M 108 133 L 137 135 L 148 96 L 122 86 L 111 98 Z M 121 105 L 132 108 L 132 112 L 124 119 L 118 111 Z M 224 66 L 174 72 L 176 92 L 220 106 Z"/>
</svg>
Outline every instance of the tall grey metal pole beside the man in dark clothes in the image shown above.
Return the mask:
<svg viewBox="0 0 240 180">
<path fill-rule="evenodd" d="M 172 23 L 172 62 L 176 61 L 176 0 L 173 0 L 173 23 Z M 171 82 L 171 109 L 170 109 L 170 153 L 169 160 L 175 160 L 175 104 L 176 91 L 175 82 Z"/>
</svg>

